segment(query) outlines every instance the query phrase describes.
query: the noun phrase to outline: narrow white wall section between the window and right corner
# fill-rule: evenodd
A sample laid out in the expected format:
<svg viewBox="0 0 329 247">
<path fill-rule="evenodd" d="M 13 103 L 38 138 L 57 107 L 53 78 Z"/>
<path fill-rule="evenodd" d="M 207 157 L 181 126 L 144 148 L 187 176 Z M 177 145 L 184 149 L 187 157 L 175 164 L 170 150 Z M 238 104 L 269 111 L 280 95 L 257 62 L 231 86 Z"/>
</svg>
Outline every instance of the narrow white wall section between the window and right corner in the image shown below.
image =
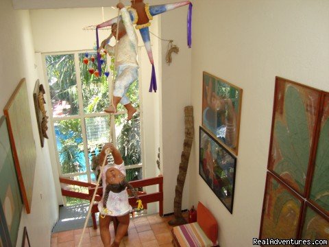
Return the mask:
<svg viewBox="0 0 329 247">
<path fill-rule="evenodd" d="M 175 185 L 184 142 L 184 107 L 191 105 L 191 50 L 187 46 L 186 16 L 188 6 L 161 15 L 161 38 L 174 40 L 180 51 L 172 54 L 170 66 L 165 62 L 167 43 L 162 42 L 162 157 L 164 176 L 164 213 L 173 212 Z M 190 162 L 191 164 L 191 162 Z M 188 168 L 189 171 L 190 168 Z M 188 208 L 190 184 L 186 176 L 182 209 Z"/>
</svg>

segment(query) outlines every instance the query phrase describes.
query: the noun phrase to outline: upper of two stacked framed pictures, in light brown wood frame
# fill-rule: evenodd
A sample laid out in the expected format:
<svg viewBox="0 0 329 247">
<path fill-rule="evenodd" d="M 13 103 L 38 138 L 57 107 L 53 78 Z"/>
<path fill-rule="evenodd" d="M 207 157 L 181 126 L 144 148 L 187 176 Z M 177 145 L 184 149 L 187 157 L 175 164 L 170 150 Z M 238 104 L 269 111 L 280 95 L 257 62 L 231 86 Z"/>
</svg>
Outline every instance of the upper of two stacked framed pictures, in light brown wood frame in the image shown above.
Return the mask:
<svg viewBox="0 0 329 247">
<path fill-rule="evenodd" d="M 242 89 L 204 72 L 202 92 L 202 126 L 237 155 Z"/>
</svg>

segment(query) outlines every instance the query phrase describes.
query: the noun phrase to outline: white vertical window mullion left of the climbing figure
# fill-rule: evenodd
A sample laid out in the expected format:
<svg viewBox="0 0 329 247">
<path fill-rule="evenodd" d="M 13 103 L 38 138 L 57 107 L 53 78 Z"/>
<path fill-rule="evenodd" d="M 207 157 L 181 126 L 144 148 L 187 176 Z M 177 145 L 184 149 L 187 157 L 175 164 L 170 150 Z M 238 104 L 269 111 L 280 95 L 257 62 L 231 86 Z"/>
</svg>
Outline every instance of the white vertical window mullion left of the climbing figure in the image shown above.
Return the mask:
<svg viewBox="0 0 329 247">
<path fill-rule="evenodd" d="M 89 157 L 88 157 L 88 143 L 87 143 L 87 133 L 86 133 L 86 121 L 84 114 L 84 102 L 82 96 L 82 82 L 80 76 L 80 62 L 79 62 L 79 54 L 74 54 L 74 64 L 75 64 L 75 77 L 77 80 L 77 100 L 79 103 L 79 113 L 80 113 L 80 122 L 81 122 L 81 132 L 82 132 L 82 142 L 84 143 L 84 159 L 86 161 L 86 174 L 88 182 L 91 181 L 90 178 L 90 165 L 89 165 Z"/>
</svg>

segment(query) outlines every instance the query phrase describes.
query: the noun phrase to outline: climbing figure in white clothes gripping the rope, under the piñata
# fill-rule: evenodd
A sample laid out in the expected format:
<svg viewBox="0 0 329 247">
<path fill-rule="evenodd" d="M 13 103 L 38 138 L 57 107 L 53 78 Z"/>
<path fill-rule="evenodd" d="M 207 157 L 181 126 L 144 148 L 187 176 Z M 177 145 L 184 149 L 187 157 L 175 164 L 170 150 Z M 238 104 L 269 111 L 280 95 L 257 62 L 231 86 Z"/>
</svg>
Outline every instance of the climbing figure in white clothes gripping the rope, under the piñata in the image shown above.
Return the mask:
<svg viewBox="0 0 329 247">
<path fill-rule="evenodd" d="M 137 45 L 138 38 L 132 21 L 130 19 L 129 12 L 123 5 L 118 3 L 117 8 L 120 9 L 122 21 L 119 22 L 119 28 L 117 23 L 112 25 L 112 33 L 108 38 L 103 40 L 98 51 L 105 49 L 110 56 L 114 56 L 116 47 L 108 45 L 112 36 L 117 38 L 117 57 L 115 58 L 115 70 L 117 77 L 114 82 L 114 91 L 112 104 L 108 108 L 104 109 L 106 113 L 117 113 L 117 105 L 119 102 L 127 109 L 127 120 L 132 119 L 136 108 L 130 103 L 130 99 L 125 95 L 129 86 L 138 79 L 138 62 L 137 62 Z"/>
</svg>

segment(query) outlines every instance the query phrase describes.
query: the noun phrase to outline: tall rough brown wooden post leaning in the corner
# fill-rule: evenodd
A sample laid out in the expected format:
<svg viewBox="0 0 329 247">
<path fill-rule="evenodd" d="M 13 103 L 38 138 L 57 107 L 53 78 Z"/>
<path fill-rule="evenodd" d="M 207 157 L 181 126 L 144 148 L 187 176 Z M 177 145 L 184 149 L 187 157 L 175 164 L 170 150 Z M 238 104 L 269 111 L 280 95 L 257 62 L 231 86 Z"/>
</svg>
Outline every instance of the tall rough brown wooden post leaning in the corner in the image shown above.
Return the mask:
<svg viewBox="0 0 329 247">
<path fill-rule="evenodd" d="M 175 218 L 168 222 L 170 225 L 186 224 L 186 220 L 182 216 L 182 195 L 194 136 L 193 106 L 186 106 L 184 108 L 184 113 L 185 139 L 180 161 L 180 171 L 177 176 L 177 185 L 175 187 L 175 200 L 173 201 L 173 214 Z"/>
</svg>

